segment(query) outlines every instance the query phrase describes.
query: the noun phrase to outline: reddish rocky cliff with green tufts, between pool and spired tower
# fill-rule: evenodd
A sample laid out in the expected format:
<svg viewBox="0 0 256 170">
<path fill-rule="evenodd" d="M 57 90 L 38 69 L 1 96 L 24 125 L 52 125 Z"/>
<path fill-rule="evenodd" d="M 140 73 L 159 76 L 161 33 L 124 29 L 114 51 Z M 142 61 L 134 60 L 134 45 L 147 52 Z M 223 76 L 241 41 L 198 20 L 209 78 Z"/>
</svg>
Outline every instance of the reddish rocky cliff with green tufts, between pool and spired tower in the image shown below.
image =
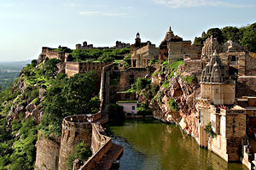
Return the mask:
<svg viewBox="0 0 256 170">
<path fill-rule="evenodd" d="M 148 103 L 155 118 L 162 122 L 177 123 L 197 139 L 200 115 L 196 111 L 196 98 L 200 94 L 200 84 L 192 73 L 181 73 L 182 66 L 177 69 L 175 65 L 176 68 L 173 69 L 172 66 L 168 68 L 166 65 L 160 65 L 154 71 L 150 77 L 151 85 L 156 84 L 159 91 Z M 145 102 L 143 93 L 138 97 Z"/>
</svg>

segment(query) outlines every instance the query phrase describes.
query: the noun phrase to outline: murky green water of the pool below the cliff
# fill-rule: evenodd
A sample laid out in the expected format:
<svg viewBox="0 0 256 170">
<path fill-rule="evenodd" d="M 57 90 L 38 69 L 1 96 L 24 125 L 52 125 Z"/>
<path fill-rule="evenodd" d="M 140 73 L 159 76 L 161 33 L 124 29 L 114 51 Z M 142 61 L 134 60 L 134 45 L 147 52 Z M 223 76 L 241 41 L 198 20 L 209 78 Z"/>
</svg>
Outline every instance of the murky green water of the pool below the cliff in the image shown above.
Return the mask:
<svg viewBox="0 0 256 170">
<path fill-rule="evenodd" d="M 111 126 L 110 130 L 113 142 L 124 147 L 120 170 L 247 170 L 201 149 L 195 139 L 175 125 L 152 119 L 130 120 L 124 126 Z"/>
</svg>

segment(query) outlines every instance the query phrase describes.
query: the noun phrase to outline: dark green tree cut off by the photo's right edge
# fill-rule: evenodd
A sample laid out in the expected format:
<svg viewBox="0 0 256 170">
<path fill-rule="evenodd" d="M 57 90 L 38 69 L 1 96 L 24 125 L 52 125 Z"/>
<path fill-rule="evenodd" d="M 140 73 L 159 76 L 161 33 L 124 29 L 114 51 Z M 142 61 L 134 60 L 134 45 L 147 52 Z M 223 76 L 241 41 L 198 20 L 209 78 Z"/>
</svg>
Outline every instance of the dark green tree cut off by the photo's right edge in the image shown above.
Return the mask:
<svg viewBox="0 0 256 170">
<path fill-rule="evenodd" d="M 256 52 L 256 23 L 246 28 L 241 44 L 249 48 L 249 51 Z"/>
</svg>

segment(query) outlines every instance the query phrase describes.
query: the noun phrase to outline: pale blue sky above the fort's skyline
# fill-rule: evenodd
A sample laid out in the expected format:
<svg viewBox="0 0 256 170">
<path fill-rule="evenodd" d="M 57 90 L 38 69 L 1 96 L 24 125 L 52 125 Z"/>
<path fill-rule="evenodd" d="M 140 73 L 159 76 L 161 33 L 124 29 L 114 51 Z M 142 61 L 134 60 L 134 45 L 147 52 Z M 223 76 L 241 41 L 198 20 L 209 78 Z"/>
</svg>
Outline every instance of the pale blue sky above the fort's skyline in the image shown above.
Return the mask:
<svg viewBox="0 0 256 170">
<path fill-rule="evenodd" d="M 169 26 L 185 40 L 212 27 L 256 22 L 255 0 L 0 0 L 0 61 L 37 59 L 52 48 L 119 40 L 159 46 Z"/>
</svg>

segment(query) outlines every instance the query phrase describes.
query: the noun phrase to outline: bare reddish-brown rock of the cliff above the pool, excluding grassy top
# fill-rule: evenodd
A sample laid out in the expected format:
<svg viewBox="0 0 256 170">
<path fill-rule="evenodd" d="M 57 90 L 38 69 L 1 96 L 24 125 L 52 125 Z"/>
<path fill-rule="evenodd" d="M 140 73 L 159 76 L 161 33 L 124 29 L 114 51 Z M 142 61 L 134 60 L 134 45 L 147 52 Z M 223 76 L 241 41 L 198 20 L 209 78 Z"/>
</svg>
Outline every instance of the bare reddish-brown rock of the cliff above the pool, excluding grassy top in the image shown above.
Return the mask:
<svg viewBox="0 0 256 170">
<path fill-rule="evenodd" d="M 162 74 L 152 77 L 152 83 L 159 86 L 166 80 L 169 81 L 169 87 L 160 87 L 161 102 L 151 100 L 150 107 L 153 110 L 155 118 L 163 122 L 172 122 L 179 124 L 183 130 L 198 139 L 199 113 L 196 111 L 196 97 L 200 94 L 200 84 L 183 81 L 181 76 L 167 78 L 168 74 Z M 172 111 L 169 105 L 170 99 L 177 103 L 178 111 Z"/>
</svg>

